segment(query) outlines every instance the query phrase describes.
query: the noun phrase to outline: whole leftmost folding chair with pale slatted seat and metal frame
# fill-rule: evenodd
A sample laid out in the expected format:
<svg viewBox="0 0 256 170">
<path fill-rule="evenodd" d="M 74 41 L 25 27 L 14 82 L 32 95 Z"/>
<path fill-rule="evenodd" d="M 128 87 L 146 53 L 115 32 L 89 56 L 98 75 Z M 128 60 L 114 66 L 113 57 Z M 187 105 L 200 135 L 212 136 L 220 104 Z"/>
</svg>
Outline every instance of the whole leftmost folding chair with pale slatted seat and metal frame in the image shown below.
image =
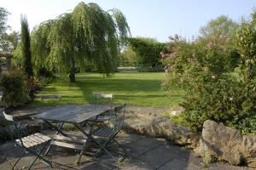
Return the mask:
<svg viewBox="0 0 256 170">
<path fill-rule="evenodd" d="M 18 158 L 17 161 L 15 161 L 15 165 L 12 167 L 12 169 L 15 169 L 15 166 L 20 161 L 21 157 L 25 156 L 26 153 L 30 152 L 32 155 L 37 156 L 34 161 L 32 161 L 32 164 L 28 169 L 31 169 L 34 163 L 39 159 L 40 161 L 44 162 L 44 164 L 48 165 L 49 167 L 52 167 L 51 163 L 44 159 L 44 157 L 41 156 L 43 150 L 45 147 L 49 144 L 50 138 L 42 133 L 34 133 L 29 136 L 21 138 L 20 135 L 20 123 L 17 124 L 15 117 L 11 115 L 7 115 L 3 111 L 3 116 L 5 119 L 9 122 L 14 122 L 15 124 L 15 133 L 18 136 L 18 139 L 15 140 L 15 146 L 20 146 L 22 149 L 24 149 L 23 154 Z M 44 145 L 43 145 L 44 144 Z M 39 146 L 42 146 L 43 148 L 39 148 Z"/>
</svg>

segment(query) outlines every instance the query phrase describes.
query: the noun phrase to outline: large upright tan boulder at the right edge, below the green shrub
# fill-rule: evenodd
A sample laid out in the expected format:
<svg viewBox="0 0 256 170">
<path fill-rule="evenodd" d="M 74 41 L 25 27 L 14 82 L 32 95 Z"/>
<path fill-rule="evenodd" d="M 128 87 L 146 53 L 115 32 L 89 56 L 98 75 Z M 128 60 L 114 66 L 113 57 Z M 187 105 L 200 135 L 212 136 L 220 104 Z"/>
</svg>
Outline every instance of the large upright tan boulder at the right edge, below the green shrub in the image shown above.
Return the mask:
<svg viewBox="0 0 256 170">
<path fill-rule="evenodd" d="M 232 165 L 256 167 L 256 136 L 242 136 L 231 127 L 207 120 L 202 131 L 202 150 Z"/>
</svg>

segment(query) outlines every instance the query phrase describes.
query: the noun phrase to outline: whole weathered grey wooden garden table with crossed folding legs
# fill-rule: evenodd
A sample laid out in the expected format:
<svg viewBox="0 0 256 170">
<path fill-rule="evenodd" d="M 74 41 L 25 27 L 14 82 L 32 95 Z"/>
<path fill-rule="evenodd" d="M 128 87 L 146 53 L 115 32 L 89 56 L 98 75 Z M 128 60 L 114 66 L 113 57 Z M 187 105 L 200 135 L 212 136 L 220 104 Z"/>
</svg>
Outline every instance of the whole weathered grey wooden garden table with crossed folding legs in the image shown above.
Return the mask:
<svg viewBox="0 0 256 170">
<path fill-rule="evenodd" d="M 79 157 L 76 161 L 76 163 L 79 163 L 89 139 L 90 141 L 96 141 L 92 138 L 91 135 L 92 129 L 95 124 L 90 126 L 89 133 L 85 132 L 85 130 L 82 128 L 82 124 L 92 117 L 95 117 L 96 119 L 97 116 L 107 111 L 110 111 L 110 108 L 106 106 L 98 106 L 95 108 L 91 105 L 66 105 L 59 108 L 55 108 L 50 111 L 44 111 L 37 115 L 33 115 L 32 118 L 43 120 L 50 127 L 53 127 L 56 130 L 55 136 L 51 139 L 51 142 L 49 144 L 48 149 L 45 152 L 45 155 L 47 155 L 52 145 L 58 145 L 62 147 L 72 148 L 75 150 L 81 150 Z M 55 127 L 51 122 L 57 122 L 59 126 Z M 84 136 L 81 137 L 67 135 L 62 131 L 64 123 L 73 124 L 74 127 L 76 127 L 81 133 L 84 134 Z"/>
</svg>

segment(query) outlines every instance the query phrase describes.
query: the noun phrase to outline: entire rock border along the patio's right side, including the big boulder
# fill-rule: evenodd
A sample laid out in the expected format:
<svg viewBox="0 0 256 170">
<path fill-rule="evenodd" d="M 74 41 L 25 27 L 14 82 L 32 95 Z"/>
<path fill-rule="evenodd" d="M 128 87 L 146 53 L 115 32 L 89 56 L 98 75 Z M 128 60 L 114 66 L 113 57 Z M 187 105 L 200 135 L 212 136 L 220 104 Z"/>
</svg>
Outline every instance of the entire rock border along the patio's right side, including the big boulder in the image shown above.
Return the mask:
<svg viewBox="0 0 256 170">
<path fill-rule="evenodd" d="M 256 136 L 241 135 L 236 129 L 209 120 L 204 122 L 202 133 L 192 133 L 188 128 L 170 122 L 163 114 L 129 108 L 126 115 L 127 130 L 185 145 L 197 156 L 207 153 L 232 165 L 256 167 Z"/>
</svg>

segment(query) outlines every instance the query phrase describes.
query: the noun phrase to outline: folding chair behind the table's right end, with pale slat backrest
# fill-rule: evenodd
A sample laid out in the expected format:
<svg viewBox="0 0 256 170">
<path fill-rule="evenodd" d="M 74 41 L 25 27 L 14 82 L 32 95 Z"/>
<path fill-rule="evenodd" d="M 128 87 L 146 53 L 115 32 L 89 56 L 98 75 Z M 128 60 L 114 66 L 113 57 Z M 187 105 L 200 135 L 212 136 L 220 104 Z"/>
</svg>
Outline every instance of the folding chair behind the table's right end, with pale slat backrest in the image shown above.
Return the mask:
<svg viewBox="0 0 256 170">
<path fill-rule="evenodd" d="M 97 102 L 99 99 L 110 99 L 111 102 L 111 110 L 112 110 L 112 105 L 113 105 L 113 94 L 95 94 L 95 107 L 97 105 Z M 110 120 L 110 116 L 97 116 L 97 117 L 91 117 L 89 119 L 89 122 L 108 122 Z"/>
</svg>

